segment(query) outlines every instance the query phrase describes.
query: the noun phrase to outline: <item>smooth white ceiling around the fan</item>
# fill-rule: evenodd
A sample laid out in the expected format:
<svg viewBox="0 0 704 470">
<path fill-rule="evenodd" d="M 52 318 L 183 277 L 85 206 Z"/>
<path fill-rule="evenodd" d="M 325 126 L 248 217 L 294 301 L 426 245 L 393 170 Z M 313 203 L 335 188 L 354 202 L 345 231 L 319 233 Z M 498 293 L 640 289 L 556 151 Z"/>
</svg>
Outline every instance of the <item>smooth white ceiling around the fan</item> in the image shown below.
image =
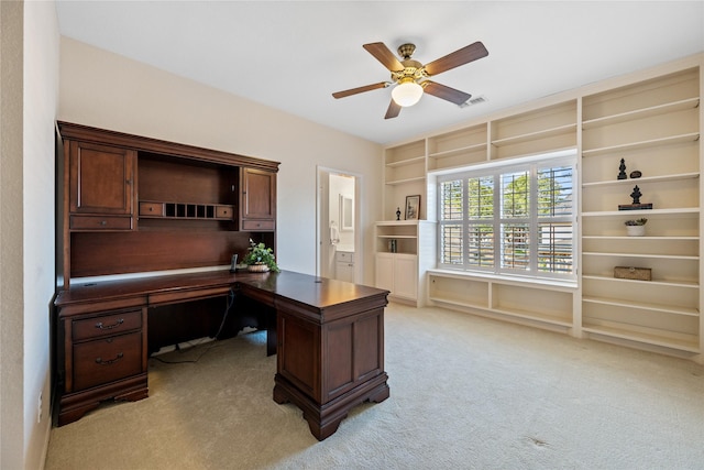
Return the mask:
<svg viewBox="0 0 704 470">
<path fill-rule="evenodd" d="M 704 1 L 69 1 L 62 35 L 378 143 L 704 51 Z M 433 77 L 486 102 L 426 95 L 384 120 L 389 79 L 362 44 L 416 44 L 427 64 L 475 41 L 488 56 Z"/>
</svg>

